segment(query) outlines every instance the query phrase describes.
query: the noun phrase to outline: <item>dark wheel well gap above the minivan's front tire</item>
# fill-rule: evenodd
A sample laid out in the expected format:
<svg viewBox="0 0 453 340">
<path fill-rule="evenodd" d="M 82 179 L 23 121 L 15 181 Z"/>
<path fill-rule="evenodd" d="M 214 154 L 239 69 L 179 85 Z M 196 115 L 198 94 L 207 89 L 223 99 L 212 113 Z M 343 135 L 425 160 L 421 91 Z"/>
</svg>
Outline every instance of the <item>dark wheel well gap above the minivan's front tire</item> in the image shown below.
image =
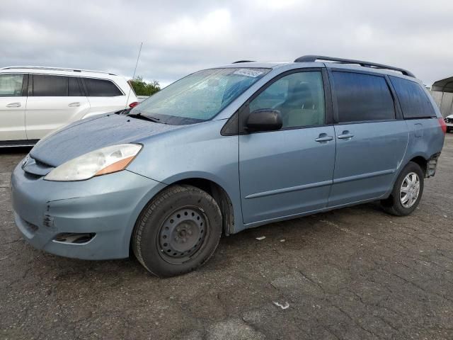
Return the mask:
<svg viewBox="0 0 453 340">
<path fill-rule="evenodd" d="M 219 186 L 217 183 L 210 181 L 208 179 L 183 179 L 181 181 L 172 183 L 172 185 L 178 184 L 187 184 L 190 186 L 195 186 L 202 191 L 206 191 L 207 193 L 214 198 L 214 200 L 219 205 L 220 211 L 222 212 L 222 220 L 223 220 L 223 231 L 225 235 L 231 234 L 234 230 L 234 211 L 233 205 L 231 200 L 224 191 L 222 186 Z"/>
</svg>

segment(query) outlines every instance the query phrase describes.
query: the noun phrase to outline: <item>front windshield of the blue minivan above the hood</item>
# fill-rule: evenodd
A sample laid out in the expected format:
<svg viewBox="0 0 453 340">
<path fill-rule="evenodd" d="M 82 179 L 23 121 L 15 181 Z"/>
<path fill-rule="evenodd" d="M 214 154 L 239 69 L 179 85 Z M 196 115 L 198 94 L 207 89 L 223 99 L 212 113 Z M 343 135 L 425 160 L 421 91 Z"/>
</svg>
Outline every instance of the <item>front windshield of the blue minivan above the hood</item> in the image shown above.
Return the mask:
<svg viewBox="0 0 453 340">
<path fill-rule="evenodd" d="M 130 111 L 161 123 L 184 125 L 214 118 L 270 69 L 205 69 L 180 79 Z"/>
</svg>

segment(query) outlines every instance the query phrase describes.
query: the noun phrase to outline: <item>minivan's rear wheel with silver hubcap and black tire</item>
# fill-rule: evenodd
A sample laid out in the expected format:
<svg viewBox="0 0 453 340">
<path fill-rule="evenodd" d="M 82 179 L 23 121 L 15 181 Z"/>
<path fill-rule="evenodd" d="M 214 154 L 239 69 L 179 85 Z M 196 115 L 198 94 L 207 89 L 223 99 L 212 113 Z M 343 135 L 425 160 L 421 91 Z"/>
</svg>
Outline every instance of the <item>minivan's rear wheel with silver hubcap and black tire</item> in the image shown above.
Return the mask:
<svg viewBox="0 0 453 340">
<path fill-rule="evenodd" d="M 418 177 L 418 186 L 415 181 L 415 176 L 410 174 L 415 174 Z M 409 179 L 413 179 L 415 183 L 412 184 L 409 182 L 408 179 L 406 179 L 406 176 L 411 176 Z M 381 201 L 384 210 L 395 216 L 410 215 L 411 212 L 417 208 L 418 203 L 420 203 L 420 199 L 422 198 L 424 177 L 425 174 L 417 163 L 409 162 L 404 166 L 398 179 L 396 179 L 391 195 L 386 200 Z M 408 193 L 404 193 L 403 188 L 404 191 L 408 191 Z M 404 200 L 406 200 L 406 202 L 403 203 Z"/>
</svg>

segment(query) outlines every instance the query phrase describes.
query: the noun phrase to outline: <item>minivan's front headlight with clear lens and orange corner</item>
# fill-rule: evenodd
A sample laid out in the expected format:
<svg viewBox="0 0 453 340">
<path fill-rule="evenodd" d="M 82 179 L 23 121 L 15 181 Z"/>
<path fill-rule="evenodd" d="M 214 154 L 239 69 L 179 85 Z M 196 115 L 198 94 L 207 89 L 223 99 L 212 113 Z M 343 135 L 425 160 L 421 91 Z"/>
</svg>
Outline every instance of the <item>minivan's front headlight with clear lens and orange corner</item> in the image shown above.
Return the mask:
<svg viewBox="0 0 453 340">
<path fill-rule="evenodd" d="M 91 177 L 111 174 L 126 169 L 142 145 L 120 144 L 103 147 L 57 166 L 50 171 L 47 181 L 83 181 Z"/>
</svg>

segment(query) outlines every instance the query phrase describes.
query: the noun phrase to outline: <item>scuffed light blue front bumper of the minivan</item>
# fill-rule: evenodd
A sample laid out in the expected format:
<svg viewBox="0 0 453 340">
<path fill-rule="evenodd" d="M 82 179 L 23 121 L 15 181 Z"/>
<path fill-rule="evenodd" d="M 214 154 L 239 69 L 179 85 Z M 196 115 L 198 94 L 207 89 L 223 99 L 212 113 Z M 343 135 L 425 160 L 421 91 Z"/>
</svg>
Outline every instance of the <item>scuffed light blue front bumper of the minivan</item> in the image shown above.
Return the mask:
<svg viewBox="0 0 453 340">
<path fill-rule="evenodd" d="M 54 182 L 16 166 L 11 176 L 14 219 L 24 239 L 37 249 L 76 259 L 129 256 L 134 223 L 162 188 L 130 171 L 87 181 Z M 88 242 L 58 242 L 62 233 L 87 233 Z"/>
</svg>

